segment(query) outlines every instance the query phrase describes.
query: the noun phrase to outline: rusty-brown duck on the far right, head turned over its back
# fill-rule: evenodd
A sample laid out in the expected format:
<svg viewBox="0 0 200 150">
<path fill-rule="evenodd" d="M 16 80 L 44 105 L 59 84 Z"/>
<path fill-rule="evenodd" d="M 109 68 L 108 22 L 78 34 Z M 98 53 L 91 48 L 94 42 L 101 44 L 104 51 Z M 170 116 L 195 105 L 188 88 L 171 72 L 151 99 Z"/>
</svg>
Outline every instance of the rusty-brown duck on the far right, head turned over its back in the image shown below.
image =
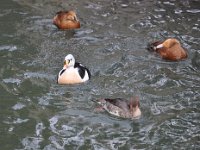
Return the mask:
<svg viewBox="0 0 200 150">
<path fill-rule="evenodd" d="M 187 52 L 175 38 L 169 38 L 163 42 L 156 41 L 151 43 L 148 45 L 148 50 L 159 53 L 166 60 L 178 61 L 187 58 Z"/>
</svg>

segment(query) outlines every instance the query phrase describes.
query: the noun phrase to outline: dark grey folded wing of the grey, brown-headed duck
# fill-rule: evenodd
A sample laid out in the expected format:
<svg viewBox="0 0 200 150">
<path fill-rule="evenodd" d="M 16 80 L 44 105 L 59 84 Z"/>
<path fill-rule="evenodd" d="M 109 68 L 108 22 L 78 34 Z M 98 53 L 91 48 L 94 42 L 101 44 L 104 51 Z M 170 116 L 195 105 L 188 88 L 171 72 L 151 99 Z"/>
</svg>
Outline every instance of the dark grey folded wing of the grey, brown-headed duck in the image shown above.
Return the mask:
<svg viewBox="0 0 200 150">
<path fill-rule="evenodd" d="M 105 99 L 106 102 L 115 105 L 125 111 L 130 110 L 129 101 L 124 100 L 122 98 L 116 98 L 116 99 Z"/>
</svg>

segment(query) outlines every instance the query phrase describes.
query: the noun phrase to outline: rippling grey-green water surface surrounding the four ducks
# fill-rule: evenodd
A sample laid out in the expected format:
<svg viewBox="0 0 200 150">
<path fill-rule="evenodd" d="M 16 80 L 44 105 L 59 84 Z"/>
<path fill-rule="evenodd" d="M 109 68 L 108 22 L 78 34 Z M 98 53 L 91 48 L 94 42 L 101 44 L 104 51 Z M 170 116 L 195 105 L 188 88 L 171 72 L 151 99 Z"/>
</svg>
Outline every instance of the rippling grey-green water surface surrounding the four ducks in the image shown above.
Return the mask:
<svg viewBox="0 0 200 150">
<path fill-rule="evenodd" d="M 0 2 L 2 149 L 199 149 L 200 2 Z M 75 9 L 82 27 L 60 31 L 54 14 Z M 148 42 L 176 37 L 185 61 L 168 62 Z M 72 53 L 91 81 L 57 85 Z M 138 95 L 142 117 L 94 112 L 101 97 Z"/>
</svg>

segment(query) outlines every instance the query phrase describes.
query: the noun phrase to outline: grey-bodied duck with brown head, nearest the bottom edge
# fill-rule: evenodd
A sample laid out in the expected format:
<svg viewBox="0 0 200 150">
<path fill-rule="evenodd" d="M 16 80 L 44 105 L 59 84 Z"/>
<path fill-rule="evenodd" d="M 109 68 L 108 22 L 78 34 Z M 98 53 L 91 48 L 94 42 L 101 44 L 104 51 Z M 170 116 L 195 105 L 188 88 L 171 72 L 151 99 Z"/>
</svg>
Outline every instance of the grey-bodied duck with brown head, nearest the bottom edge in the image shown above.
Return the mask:
<svg viewBox="0 0 200 150">
<path fill-rule="evenodd" d="M 139 99 L 131 99 L 130 101 L 122 98 L 116 99 L 99 99 L 98 103 L 101 108 L 106 110 L 108 113 L 122 117 L 136 119 L 141 115 Z M 100 109 L 101 109 L 100 108 Z"/>
</svg>

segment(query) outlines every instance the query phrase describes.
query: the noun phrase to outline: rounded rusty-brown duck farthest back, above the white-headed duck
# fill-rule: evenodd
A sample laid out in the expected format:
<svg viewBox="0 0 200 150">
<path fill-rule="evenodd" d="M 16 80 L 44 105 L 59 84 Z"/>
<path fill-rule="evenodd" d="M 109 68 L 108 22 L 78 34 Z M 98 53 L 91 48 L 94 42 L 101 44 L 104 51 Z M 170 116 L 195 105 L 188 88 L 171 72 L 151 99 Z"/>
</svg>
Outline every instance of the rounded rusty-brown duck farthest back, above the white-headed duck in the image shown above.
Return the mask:
<svg viewBox="0 0 200 150">
<path fill-rule="evenodd" d="M 77 29 L 80 28 L 80 22 L 77 19 L 76 13 L 70 11 L 59 11 L 53 18 L 53 24 L 59 29 Z"/>
</svg>

